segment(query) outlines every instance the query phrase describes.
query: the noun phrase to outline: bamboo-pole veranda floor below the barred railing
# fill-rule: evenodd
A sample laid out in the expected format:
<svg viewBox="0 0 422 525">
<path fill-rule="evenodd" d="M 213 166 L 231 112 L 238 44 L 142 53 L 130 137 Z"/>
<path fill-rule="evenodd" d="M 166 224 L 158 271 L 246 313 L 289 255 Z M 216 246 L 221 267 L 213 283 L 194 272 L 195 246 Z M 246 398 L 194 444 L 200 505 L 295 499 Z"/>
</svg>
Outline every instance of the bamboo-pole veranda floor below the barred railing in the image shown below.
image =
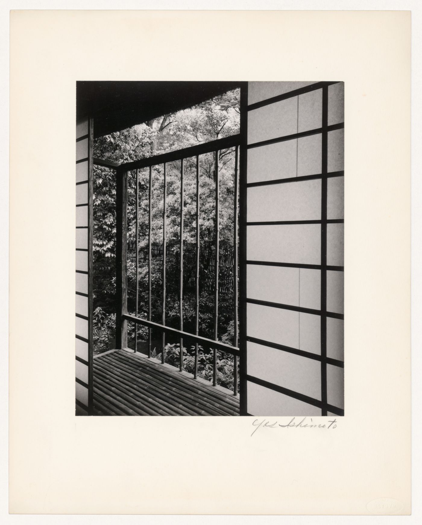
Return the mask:
<svg viewBox="0 0 422 525">
<path fill-rule="evenodd" d="M 141 354 L 115 350 L 93 362 L 96 415 L 239 415 L 239 397 Z"/>
</svg>

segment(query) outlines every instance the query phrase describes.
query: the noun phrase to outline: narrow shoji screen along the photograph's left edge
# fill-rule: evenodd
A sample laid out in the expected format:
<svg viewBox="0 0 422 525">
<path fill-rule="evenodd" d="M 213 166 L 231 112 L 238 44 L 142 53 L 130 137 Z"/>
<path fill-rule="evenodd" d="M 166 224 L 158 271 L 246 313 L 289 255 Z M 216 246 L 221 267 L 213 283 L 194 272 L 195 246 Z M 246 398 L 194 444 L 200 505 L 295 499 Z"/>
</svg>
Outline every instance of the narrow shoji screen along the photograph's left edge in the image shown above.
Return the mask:
<svg viewBox="0 0 422 525">
<path fill-rule="evenodd" d="M 92 119 L 76 124 L 76 414 L 92 406 Z"/>
</svg>

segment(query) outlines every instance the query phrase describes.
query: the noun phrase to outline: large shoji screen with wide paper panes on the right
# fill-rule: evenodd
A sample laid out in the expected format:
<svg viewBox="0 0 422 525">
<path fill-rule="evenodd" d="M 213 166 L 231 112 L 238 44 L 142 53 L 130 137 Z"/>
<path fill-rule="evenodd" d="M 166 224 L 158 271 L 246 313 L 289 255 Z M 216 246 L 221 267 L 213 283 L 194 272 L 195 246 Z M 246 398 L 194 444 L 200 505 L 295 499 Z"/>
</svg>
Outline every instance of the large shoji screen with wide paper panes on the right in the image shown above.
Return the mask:
<svg viewBox="0 0 422 525">
<path fill-rule="evenodd" d="M 342 82 L 249 82 L 247 413 L 343 415 Z"/>
</svg>

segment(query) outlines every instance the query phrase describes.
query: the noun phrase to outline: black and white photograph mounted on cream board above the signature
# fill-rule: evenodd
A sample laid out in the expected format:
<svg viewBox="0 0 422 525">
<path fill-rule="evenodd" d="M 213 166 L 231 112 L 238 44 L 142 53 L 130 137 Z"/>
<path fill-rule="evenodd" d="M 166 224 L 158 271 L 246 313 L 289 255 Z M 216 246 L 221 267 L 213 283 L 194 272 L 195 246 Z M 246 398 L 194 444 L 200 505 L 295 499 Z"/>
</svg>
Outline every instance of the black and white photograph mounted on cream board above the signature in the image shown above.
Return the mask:
<svg viewBox="0 0 422 525">
<path fill-rule="evenodd" d="M 344 416 L 344 90 L 76 82 L 77 415 Z"/>
</svg>

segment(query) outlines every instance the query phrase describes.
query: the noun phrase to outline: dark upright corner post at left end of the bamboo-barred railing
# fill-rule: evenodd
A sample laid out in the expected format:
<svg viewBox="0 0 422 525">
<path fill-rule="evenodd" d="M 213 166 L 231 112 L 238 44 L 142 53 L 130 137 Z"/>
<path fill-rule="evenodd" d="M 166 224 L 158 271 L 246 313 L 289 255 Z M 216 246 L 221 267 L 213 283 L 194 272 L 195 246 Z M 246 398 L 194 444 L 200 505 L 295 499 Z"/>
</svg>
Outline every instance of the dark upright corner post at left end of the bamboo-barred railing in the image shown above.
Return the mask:
<svg viewBox="0 0 422 525">
<path fill-rule="evenodd" d="M 126 250 L 128 246 L 128 172 L 116 173 L 116 348 L 128 346 L 128 272 Z"/>
</svg>

